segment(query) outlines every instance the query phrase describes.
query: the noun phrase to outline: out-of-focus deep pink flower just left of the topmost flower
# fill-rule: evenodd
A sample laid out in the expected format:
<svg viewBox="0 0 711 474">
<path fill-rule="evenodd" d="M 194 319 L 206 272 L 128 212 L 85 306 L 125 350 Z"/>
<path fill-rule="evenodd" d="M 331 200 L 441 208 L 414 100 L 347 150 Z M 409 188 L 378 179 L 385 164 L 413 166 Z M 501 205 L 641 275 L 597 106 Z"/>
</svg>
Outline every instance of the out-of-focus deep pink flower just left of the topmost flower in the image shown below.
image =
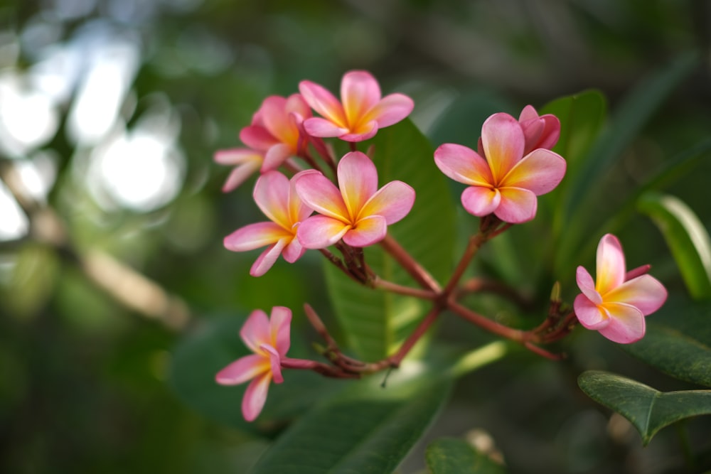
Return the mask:
<svg viewBox="0 0 711 474">
<path fill-rule="evenodd" d="M 274 170 L 291 156 L 301 156 L 308 144 L 302 122 L 311 109 L 299 94 L 272 95 L 264 99 L 252 124 L 240 131 L 240 139 L 250 148 L 264 153 L 261 171 Z"/>
</svg>

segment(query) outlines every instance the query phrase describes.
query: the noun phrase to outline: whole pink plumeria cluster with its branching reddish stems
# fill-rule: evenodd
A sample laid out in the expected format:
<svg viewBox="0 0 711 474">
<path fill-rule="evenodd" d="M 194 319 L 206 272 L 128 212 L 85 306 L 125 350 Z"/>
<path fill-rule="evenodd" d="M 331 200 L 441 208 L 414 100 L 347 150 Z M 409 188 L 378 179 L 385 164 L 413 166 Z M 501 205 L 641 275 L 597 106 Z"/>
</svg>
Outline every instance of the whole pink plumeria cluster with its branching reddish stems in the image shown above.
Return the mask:
<svg viewBox="0 0 711 474">
<path fill-rule="evenodd" d="M 240 331 L 252 354 L 232 362 L 216 376 L 218 383 L 227 385 L 251 380 L 242 400 L 247 421 L 256 419 L 262 410 L 269 384 L 282 383 L 282 369 L 347 378 L 398 367 L 445 310 L 555 359 L 556 355 L 540 345 L 564 337 L 576 323 L 615 343 L 633 343 L 645 333 L 644 318 L 664 303 L 666 290 L 647 274 L 649 266 L 626 272 L 621 244 L 608 234 L 597 250 L 597 279 L 579 266 L 576 279 L 582 293 L 574 299 L 572 311 L 557 297 L 552 298 L 548 316 L 537 328 L 508 328 L 461 305 L 457 298 L 467 285 L 460 279 L 481 245 L 512 225 L 533 220 L 538 196 L 550 193 L 564 178 L 565 158 L 553 151 L 561 125 L 554 115 L 539 115 L 528 105 L 518 119 L 503 112 L 488 117 L 476 150 L 442 144 L 434 151 L 432 158 L 439 170 L 467 186 L 461 193 L 461 205 L 480 217 L 479 232 L 469 239 L 451 278 L 442 286 L 388 234 L 388 227 L 412 210 L 415 189 L 402 181 L 379 187 L 375 163 L 358 150 L 361 141 L 402 121 L 413 107 L 406 95 L 383 97 L 378 81 L 365 71 L 343 76 L 340 100 L 325 87 L 304 80 L 298 94 L 264 99 L 252 123 L 240 131 L 247 147 L 215 153 L 218 163 L 235 166 L 225 191 L 259 173 L 253 198 L 267 220 L 240 227 L 224 241 L 234 252 L 266 247 L 252 264 L 252 276 L 264 275 L 280 255 L 294 263 L 307 250 L 315 249 L 358 284 L 432 301 L 432 309 L 400 350 L 378 362 L 344 355 L 308 305 L 306 317 L 326 340 L 323 355 L 327 362 L 289 358 L 289 308 L 275 306 L 271 318 L 264 311 L 254 311 Z M 333 146 L 324 139 L 346 141 L 351 151 L 337 159 Z M 381 244 L 419 287 L 393 284 L 374 274 L 363 252 L 374 244 Z M 341 257 L 331 253 L 330 247 Z"/>
</svg>

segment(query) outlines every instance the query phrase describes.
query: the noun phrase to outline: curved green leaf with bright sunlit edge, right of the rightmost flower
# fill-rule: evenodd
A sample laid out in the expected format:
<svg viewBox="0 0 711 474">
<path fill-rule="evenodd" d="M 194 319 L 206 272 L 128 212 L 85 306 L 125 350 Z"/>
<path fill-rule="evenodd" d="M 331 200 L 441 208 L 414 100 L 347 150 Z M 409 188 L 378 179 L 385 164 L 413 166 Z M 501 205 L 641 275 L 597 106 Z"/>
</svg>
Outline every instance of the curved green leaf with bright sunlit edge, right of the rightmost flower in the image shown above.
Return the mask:
<svg viewBox="0 0 711 474">
<path fill-rule="evenodd" d="M 661 230 L 693 298 L 711 297 L 711 238 L 683 201 L 670 195 L 646 193 L 637 208 Z"/>
</svg>

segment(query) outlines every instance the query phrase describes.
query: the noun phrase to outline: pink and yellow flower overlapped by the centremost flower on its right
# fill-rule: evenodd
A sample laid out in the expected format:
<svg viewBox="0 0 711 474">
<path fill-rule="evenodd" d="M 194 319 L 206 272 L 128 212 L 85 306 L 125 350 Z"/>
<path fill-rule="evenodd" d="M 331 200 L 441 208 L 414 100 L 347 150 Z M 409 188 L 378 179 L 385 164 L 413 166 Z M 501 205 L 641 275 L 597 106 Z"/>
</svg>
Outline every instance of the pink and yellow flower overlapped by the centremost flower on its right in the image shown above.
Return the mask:
<svg viewBox="0 0 711 474">
<path fill-rule="evenodd" d="M 257 222 L 235 230 L 225 237 L 225 247 L 234 252 L 245 252 L 267 245 L 250 269 L 250 275 L 262 276 L 272 268 L 281 254 L 294 263 L 306 249 L 296 239 L 299 222 L 309 217 L 312 210 L 304 205 L 289 178 L 279 171 L 267 171 L 255 184 L 257 206 L 269 217 L 269 222 Z"/>
</svg>

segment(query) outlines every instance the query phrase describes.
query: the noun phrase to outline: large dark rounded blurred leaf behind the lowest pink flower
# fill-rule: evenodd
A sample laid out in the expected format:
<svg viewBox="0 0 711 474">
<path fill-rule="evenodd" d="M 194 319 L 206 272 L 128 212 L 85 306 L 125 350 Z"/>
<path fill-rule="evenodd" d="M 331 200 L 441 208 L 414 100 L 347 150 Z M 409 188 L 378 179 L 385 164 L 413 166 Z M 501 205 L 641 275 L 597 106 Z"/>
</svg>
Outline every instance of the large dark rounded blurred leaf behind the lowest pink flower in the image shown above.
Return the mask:
<svg viewBox="0 0 711 474">
<path fill-rule="evenodd" d="M 274 433 L 311 404 L 339 388 L 332 379 L 313 372 L 288 370 L 284 383 L 271 384 L 267 403 L 251 424 L 242 418 L 242 395 L 247 384 L 225 387 L 215 374 L 250 351 L 240 339 L 244 318 L 215 318 L 202 321 L 173 350 L 170 384 L 183 402 L 208 419 L 253 433 Z M 292 336 L 290 357 L 299 357 L 299 339 Z"/>
</svg>

